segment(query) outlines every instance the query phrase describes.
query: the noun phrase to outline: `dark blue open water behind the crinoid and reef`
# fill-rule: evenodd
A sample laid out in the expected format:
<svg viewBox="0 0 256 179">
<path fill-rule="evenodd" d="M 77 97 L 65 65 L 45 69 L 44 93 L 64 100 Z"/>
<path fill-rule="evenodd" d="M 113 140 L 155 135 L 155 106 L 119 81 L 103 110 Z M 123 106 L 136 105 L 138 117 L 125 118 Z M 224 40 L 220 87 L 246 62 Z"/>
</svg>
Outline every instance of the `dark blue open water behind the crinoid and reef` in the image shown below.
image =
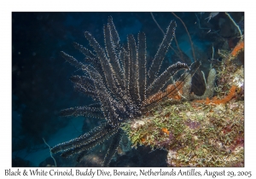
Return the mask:
<svg viewBox="0 0 256 179">
<path fill-rule="evenodd" d="M 194 61 L 188 34 L 177 18 L 170 12 L 154 12 L 154 19 L 166 32 L 171 20 L 176 20 L 176 37 L 179 48 L 187 57 L 188 64 Z M 221 61 L 218 49 L 234 49 L 237 38 L 236 26 L 224 13 L 176 13 L 187 26 L 195 48 L 195 56 L 201 61 L 201 71 L 208 74 L 211 61 Z M 212 15 L 212 19 L 207 19 Z M 214 16 L 213 16 L 214 15 Z M 244 29 L 244 13 L 230 13 Z M 82 135 L 101 123 L 94 118 L 61 118 L 59 112 L 68 107 L 86 106 L 92 103 L 90 97 L 73 90 L 69 80 L 79 71 L 70 66 L 60 55 L 61 51 L 83 61 L 84 57 L 73 48 L 73 42 L 90 49 L 84 32 L 90 32 L 103 46 L 103 25 L 113 17 L 121 43 L 128 34 L 135 37 L 145 32 L 147 55 L 154 57 L 163 38 L 163 33 L 149 12 L 133 13 L 12 13 L 12 166 L 55 165 L 49 156 L 49 147 L 69 141 Z M 172 41 L 175 46 L 175 42 Z M 215 53 L 212 56 L 212 45 Z M 181 61 L 172 49 L 166 54 L 163 66 Z M 165 65 L 166 64 L 166 65 Z M 202 95 L 204 82 L 198 80 L 193 88 Z M 44 138 L 44 140 L 43 140 Z M 129 142 L 124 141 L 123 142 Z M 61 159 L 55 154 L 58 166 L 98 166 L 104 158 L 104 144 L 86 163 L 73 159 Z M 119 151 L 110 166 L 167 166 L 165 150 L 151 151 L 150 147 L 127 148 Z M 89 161 L 90 160 L 90 161 Z"/>
</svg>

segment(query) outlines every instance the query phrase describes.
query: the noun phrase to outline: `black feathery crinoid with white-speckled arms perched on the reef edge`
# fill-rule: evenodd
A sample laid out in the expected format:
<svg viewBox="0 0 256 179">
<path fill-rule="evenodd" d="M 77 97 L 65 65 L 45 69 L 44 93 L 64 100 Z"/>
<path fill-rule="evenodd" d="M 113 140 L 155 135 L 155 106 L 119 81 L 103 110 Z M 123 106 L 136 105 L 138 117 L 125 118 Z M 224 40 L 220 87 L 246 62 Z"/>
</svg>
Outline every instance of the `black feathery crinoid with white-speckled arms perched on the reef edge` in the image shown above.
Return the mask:
<svg viewBox="0 0 256 179">
<path fill-rule="evenodd" d="M 61 52 L 66 61 L 84 72 L 84 76 L 71 78 L 75 88 L 90 95 L 100 104 L 68 108 L 61 111 L 61 116 L 90 116 L 105 119 L 106 122 L 78 138 L 58 144 L 51 149 L 52 153 L 62 152 L 63 157 L 78 153 L 79 161 L 90 148 L 96 147 L 103 141 L 111 140 L 102 164 L 102 166 L 108 166 L 123 135 L 120 125 L 128 119 L 143 115 L 154 107 L 154 104 L 167 98 L 168 93 L 173 93 L 173 90 L 168 91 L 159 98 L 148 100 L 149 96 L 162 90 L 175 73 L 186 70 L 177 79 L 180 82 L 176 83 L 178 87 L 182 85 L 189 73 L 193 75 L 201 65 L 199 61 L 195 61 L 191 66 L 177 62 L 168 66 L 166 71 L 160 74 L 160 66 L 172 42 L 175 28 L 176 22 L 172 20 L 148 69 L 145 34 L 138 33 L 137 43 L 132 35 L 128 35 L 127 45 L 121 45 L 112 17 L 108 18 L 108 25 L 103 27 L 105 49 L 96 42 L 90 32 L 84 32 L 84 35 L 94 52 L 74 43 L 74 47 L 85 55 L 86 63 L 79 62 L 73 56 Z"/>
</svg>

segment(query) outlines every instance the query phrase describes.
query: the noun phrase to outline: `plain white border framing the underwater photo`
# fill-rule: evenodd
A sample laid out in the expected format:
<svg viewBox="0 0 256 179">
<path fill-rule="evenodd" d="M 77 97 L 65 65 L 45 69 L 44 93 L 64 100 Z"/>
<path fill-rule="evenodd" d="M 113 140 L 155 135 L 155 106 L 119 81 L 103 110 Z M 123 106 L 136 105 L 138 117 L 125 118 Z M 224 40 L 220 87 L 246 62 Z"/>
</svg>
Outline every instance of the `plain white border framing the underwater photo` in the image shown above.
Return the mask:
<svg viewBox="0 0 256 179">
<path fill-rule="evenodd" d="M 253 1 L 251 1 L 253 2 Z M 256 31 L 255 31 L 255 7 L 253 3 L 249 1 L 139 1 L 135 0 L 105 0 L 105 1 L 28 1 L 28 0 L 15 0 L 7 1 L 2 0 L 0 3 L 0 36 L 1 36 L 1 65 L 0 65 L 0 82 L 1 82 L 1 167 L 0 176 L 4 176 L 4 170 L 11 168 L 11 12 L 13 11 L 245 11 L 245 168 L 227 168 L 225 170 L 253 170 L 255 164 L 255 92 L 256 92 L 256 79 L 255 79 L 255 43 L 256 43 Z M 254 53 L 253 53 L 254 52 Z M 254 117 L 254 118 L 253 118 Z M 255 148 L 254 148 L 255 147 Z M 22 168 L 20 170 L 25 170 Z M 59 170 L 65 170 L 62 168 Z M 120 169 L 120 168 L 119 168 Z M 129 170 L 121 168 L 122 170 Z M 158 168 L 154 168 L 157 170 Z M 177 170 L 177 168 L 175 168 Z M 49 170 L 49 168 L 45 169 Z M 75 170 L 75 169 L 74 169 Z M 84 170 L 84 169 L 81 169 Z M 94 168 L 96 170 L 96 168 Z M 106 168 L 104 170 L 113 171 L 112 168 Z M 139 170 L 138 168 L 132 168 L 132 170 Z M 184 169 L 185 170 L 185 169 Z M 196 169 L 203 172 L 204 169 Z M 211 168 L 209 170 L 224 170 L 224 168 Z M 255 177 L 253 173 L 253 177 Z M 24 177 L 24 176 L 23 176 Z M 30 177 L 31 176 L 25 176 Z M 63 176 L 55 176 L 61 178 Z M 85 177 L 85 176 L 82 176 Z M 98 176 L 99 178 L 102 176 Z M 97 178 L 98 178 L 97 177 Z M 147 176 L 151 177 L 151 176 Z M 170 177 L 170 176 L 168 176 Z M 35 178 L 33 176 L 33 178 Z M 96 177 L 94 177 L 96 178 Z M 195 178 L 194 176 L 190 178 Z M 212 178 L 212 177 L 211 177 Z M 221 177 L 218 177 L 221 178 Z"/>
</svg>

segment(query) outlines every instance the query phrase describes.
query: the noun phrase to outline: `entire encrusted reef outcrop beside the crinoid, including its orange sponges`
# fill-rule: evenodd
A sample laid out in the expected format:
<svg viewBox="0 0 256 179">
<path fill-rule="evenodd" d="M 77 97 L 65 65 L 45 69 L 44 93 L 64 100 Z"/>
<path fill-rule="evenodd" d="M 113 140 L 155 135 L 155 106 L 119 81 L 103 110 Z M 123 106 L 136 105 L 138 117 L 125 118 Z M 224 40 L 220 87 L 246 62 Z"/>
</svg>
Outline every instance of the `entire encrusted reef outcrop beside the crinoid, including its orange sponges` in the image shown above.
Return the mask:
<svg viewBox="0 0 256 179">
<path fill-rule="evenodd" d="M 211 88 L 204 95 L 190 94 L 192 79 L 188 79 L 148 115 L 124 124 L 132 146 L 165 149 L 168 166 L 243 166 L 244 71 L 236 59 L 243 49 L 243 41 L 237 43 L 217 74 L 214 70 L 211 79 L 209 74 L 206 86 Z M 238 62 L 234 65 L 230 60 Z M 166 91 L 151 98 L 160 98 Z"/>
</svg>

